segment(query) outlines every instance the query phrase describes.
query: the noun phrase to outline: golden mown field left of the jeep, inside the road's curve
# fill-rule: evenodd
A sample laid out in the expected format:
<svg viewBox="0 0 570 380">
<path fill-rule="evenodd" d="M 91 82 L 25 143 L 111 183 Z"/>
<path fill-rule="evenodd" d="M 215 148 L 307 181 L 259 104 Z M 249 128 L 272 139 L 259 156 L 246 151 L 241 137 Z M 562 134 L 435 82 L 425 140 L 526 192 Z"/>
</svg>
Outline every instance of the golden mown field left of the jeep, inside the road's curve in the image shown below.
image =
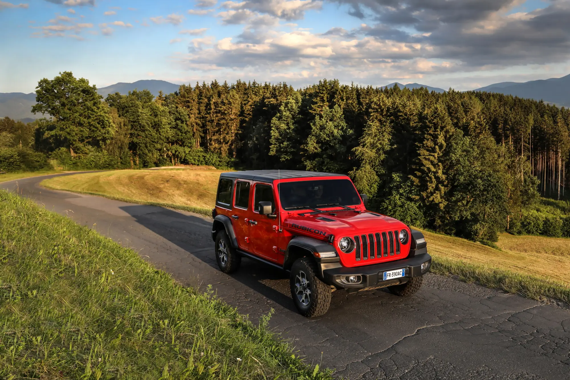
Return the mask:
<svg viewBox="0 0 570 380">
<path fill-rule="evenodd" d="M 42 181 L 42 185 L 211 215 L 222 172 L 210 167 L 116 170 L 55 177 Z"/>
</svg>

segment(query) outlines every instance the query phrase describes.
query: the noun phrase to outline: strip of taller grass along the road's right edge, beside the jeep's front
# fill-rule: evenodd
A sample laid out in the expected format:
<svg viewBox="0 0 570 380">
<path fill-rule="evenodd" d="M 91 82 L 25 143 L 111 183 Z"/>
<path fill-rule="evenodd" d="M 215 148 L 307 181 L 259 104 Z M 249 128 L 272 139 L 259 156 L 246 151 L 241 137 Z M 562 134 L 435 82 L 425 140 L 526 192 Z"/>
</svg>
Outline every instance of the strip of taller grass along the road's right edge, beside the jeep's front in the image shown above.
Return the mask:
<svg viewBox="0 0 570 380">
<path fill-rule="evenodd" d="M 453 258 L 432 255 L 432 259 L 431 272 L 436 274 L 457 277 L 461 281 L 520 294 L 533 300 L 551 298 L 570 304 L 570 288 L 561 282 Z"/>
</svg>

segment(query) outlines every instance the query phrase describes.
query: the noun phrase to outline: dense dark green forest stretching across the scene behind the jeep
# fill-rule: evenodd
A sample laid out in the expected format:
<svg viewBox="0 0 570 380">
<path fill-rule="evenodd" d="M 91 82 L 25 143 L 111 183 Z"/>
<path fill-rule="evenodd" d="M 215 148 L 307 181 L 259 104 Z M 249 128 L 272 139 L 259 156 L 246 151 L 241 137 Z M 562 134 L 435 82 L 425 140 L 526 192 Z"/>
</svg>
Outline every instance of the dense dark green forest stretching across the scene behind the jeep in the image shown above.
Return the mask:
<svg viewBox="0 0 570 380">
<path fill-rule="evenodd" d="M 43 119 L 1 120 L 0 170 L 54 159 L 85 169 L 345 173 L 369 208 L 417 227 L 481 242 L 503 231 L 570 235 L 570 208 L 553 216 L 537 206 L 568 198 L 570 111 L 541 101 L 325 79 L 300 89 L 214 81 L 103 99 L 71 72 L 40 80 L 36 100 Z"/>
</svg>

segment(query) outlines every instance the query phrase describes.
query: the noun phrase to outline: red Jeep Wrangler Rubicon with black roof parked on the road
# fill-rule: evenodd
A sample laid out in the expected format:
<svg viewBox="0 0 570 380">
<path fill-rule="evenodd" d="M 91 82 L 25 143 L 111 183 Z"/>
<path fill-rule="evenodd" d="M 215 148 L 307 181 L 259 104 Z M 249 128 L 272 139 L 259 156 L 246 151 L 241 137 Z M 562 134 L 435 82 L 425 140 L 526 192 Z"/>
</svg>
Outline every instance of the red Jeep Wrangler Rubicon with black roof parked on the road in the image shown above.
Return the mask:
<svg viewBox="0 0 570 380">
<path fill-rule="evenodd" d="M 420 231 L 366 210 L 348 176 L 303 171 L 222 173 L 212 238 L 222 272 L 243 256 L 291 273 L 299 313 L 321 316 L 336 289 L 420 289 L 431 256 Z"/>
</svg>

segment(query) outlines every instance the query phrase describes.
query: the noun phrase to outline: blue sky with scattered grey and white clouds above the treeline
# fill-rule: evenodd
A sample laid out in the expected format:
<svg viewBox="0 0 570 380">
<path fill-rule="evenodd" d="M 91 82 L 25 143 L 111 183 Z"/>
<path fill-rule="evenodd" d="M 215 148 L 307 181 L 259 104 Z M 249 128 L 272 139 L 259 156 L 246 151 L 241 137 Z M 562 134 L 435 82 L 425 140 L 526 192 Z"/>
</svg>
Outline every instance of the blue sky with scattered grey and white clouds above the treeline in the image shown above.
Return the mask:
<svg viewBox="0 0 570 380">
<path fill-rule="evenodd" d="M 0 92 L 322 78 L 469 90 L 570 73 L 570 0 L 0 0 Z"/>
</svg>

